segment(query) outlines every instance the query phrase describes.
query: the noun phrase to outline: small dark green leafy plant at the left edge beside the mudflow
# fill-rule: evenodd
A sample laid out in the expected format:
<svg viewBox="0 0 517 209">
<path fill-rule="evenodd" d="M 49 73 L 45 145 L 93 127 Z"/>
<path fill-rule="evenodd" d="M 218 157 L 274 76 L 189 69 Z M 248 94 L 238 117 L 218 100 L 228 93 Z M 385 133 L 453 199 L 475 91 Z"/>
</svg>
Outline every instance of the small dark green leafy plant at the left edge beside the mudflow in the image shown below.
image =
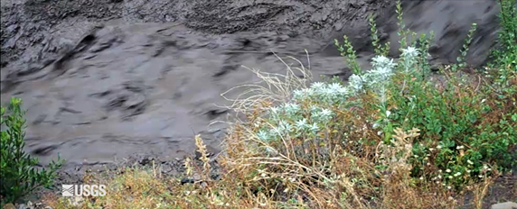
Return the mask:
<svg viewBox="0 0 517 209">
<path fill-rule="evenodd" d="M 12 203 L 39 186 L 52 186 L 55 171 L 62 160 L 52 161 L 48 168 L 34 168 L 38 159 L 24 151 L 24 111 L 22 100 L 13 97 L 7 108 L 1 107 L 2 136 L 0 145 L 0 196 L 2 204 Z M 5 115 L 6 112 L 9 114 Z"/>
</svg>

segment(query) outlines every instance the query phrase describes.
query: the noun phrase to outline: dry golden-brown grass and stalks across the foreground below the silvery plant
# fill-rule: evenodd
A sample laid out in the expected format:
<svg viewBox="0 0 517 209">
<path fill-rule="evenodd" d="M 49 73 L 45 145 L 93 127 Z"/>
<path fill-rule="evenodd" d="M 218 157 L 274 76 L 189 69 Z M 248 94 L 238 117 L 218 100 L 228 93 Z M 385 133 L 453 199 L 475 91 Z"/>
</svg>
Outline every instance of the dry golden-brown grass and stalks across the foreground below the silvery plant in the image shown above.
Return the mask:
<svg viewBox="0 0 517 209">
<path fill-rule="evenodd" d="M 336 125 L 320 134 L 324 141 L 285 138 L 275 144 L 258 140 L 258 127 L 268 125 L 264 110 L 287 102 L 293 89 L 304 87 L 308 69 L 294 68 L 281 59 L 287 75 L 271 75 L 250 69 L 265 81 L 247 87 L 233 101 L 232 109 L 246 119 L 232 123 L 223 152 L 218 157 L 221 179 L 211 180 L 211 165 L 199 136 L 195 137 L 201 159 L 186 159 L 186 176 L 198 176 L 194 184 L 160 177 L 158 168 L 131 168 L 116 177 L 102 179 L 108 195 L 72 205 L 64 198 L 46 198 L 53 208 L 455 208 L 462 194 L 436 182 L 410 177 L 413 140 L 419 130 L 396 130 L 392 145 L 383 144 L 371 130 L 368 115 L 374 110 L 337 111 Z M 296 63 L 301 62 L 294 59 Z M 300 71 L 302 78 L 295 71 Z M 248 96 L 246 96 L 248 95 Z M 368 95 L 364 98 L 368 100 Z M 264 151 L 264 146 L 274 150 Z M 425 175 L 425 174 L 424 174 Z M 99 179 L 90 179 L 89 181 Z M 475 208 L 481 208 L 492 178 L 471 184 Z M 85 204 L 85 203 L 90 204 Z"/>
</svg>

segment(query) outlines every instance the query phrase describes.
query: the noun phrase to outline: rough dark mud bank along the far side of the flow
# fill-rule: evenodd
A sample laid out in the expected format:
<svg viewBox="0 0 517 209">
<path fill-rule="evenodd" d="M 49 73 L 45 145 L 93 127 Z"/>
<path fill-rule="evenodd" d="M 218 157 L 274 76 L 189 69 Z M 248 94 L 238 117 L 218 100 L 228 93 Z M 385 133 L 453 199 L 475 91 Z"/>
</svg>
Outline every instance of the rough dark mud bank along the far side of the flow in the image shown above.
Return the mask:
<svg viewBox="0 0 517 209">
<path fill-rule="evenodd" d="M 30 59 L 24 52 L 38 45 L 43 49 L 32 49 L 38 54 L 33 59 L 42 59 L 60 50 L 61 45 L 76 41 L 95 24 L 114 19 L 121 19 L 121 23 L 184 23 L 210 34 L 284 32 L 328 39 L 332 32 L 363 21 L 367 13 L 386 7 L 388 2 L 3 1 L 2 60 L 5 66 L 16 59 Z"/>
</svg>

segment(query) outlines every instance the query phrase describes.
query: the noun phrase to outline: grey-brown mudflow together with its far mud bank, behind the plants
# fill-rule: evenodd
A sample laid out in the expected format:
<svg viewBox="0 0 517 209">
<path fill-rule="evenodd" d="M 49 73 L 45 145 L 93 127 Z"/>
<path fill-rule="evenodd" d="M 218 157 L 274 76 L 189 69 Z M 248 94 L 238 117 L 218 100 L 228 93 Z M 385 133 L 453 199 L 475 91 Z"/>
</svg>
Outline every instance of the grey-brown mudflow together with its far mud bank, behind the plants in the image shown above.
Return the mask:
<svg viewBox="0 0 517 209">
<path fill-rule="evenodd" d="M 454 61 L 473 22 L 470 63 L 487 60 L 495 1 L 404 6 L 409 28 L 435 31 L 433 62 Z M 24 99 L 27 149 L 43 163 L 57 153 L 71 164 L 182 158 L 197 133 L 216 152 L 226 125 L 209 124 L 231 114 L 221 93 L 258 81 L 241 66 L 284 73 L 273 50 L 308 67 L 306 49 L 315 77 L 348 77 L 329 43 L 349 35 L 367 66 L 366 15 L 377 14 L 382 39 L 396 42 L 393 11 L 374 0 L 3 1 L 2 103 Z"/>
</svg>

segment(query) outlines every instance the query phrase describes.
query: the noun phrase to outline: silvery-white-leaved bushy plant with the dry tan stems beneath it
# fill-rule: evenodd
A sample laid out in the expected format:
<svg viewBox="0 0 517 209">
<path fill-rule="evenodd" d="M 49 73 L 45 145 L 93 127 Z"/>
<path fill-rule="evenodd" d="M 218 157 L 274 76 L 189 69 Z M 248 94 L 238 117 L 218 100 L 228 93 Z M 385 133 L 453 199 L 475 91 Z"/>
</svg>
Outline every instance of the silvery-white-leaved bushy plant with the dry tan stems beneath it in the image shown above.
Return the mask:
<svg viewBox="0 0 517 209">
<path fill-rule="evenodd" d="M 316 188 L 339 194 L 325 196 L 333 204 L 318 207 L 335 201 L 342 207 L 365 207 L 364 196 L 385 195 L 383 181 L 413 192 L 401 182 L 409 177 L 403 176 L 412 168 L 411 141 L 420 131 L 396 127 L 390 105 L 392 94 L 400 94 L 392 91 L 393 77 L 417 71 L 413 65 L 418 56 L 414 47 L 402 50 L 399 62 L 377 56 L 371 70 L 353 74 L 346 84 L 315 82 L 294 90 L 287 103 L 265 102 L 252 111 L 249 123 L 235 127 L 227 141 L 231 151 L 226 160 L 241 166 L 230 175 L 249 174 L 255 180 L 246 187 L 252 190 L 282 188 L 274 191 L 275 199 Z M 383 177 L 383 172 L 392 175 Z M 299 200 L 290 205 L 298 204 Z"/>
</svg>

